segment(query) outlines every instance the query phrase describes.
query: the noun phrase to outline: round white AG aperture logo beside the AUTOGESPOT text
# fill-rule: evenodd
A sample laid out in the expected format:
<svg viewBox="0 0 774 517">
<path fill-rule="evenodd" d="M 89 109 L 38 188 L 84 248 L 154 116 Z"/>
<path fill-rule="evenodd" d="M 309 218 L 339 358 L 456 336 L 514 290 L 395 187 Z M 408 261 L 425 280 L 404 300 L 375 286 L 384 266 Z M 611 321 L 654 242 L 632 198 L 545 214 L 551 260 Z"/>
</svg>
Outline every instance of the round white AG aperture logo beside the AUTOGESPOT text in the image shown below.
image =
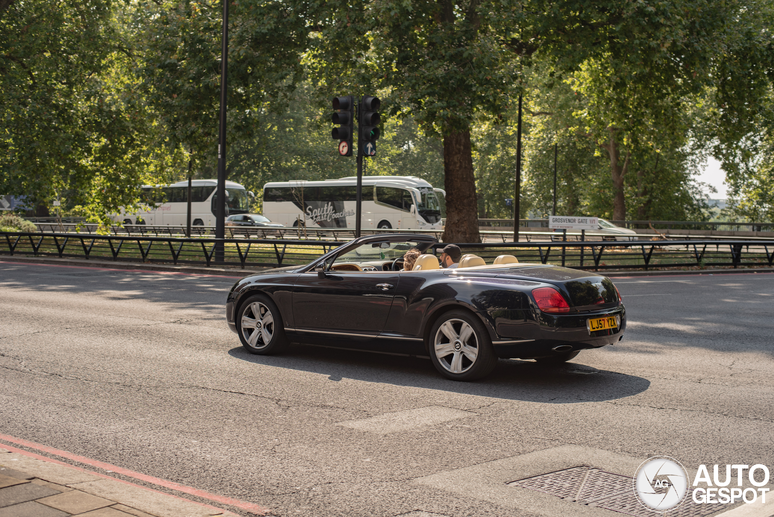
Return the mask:
<svg viewBox="0 0 774 517">
<path fill-rule="evenodd" d="M 679 461 L 668 456 L 654 456 L 637 469 L 634 492 L 639 502 L 650 510 L 676 508 L 688 491 L 688 474 Z"/>
</svg>

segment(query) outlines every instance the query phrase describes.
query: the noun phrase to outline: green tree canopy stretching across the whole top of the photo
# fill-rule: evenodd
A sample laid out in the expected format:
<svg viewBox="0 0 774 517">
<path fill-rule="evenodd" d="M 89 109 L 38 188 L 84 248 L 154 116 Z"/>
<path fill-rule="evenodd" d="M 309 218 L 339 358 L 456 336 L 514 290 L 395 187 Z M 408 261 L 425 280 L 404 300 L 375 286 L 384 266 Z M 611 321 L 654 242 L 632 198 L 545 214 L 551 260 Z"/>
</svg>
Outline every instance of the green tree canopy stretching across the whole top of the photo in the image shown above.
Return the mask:
<svg viewBox="0 0 774 517">
<path fill-rule="evenodd" d="M 771 0 L 235 0 L 228 177 L 351 176 L 333 94 L 385 108 L 369 174 L 447 191 L 446 241 L 522 216 L 704 219 L 714 156 L 731 217 L 774 221 Z M 214 176 L 221 5 L 0 3 L 2 193 L 108 221 L 143 183 Z M 260 200 L 259 200 L 260 203 Z M 259 208 L 256 207 L 256 208 Z"/>
</svg>

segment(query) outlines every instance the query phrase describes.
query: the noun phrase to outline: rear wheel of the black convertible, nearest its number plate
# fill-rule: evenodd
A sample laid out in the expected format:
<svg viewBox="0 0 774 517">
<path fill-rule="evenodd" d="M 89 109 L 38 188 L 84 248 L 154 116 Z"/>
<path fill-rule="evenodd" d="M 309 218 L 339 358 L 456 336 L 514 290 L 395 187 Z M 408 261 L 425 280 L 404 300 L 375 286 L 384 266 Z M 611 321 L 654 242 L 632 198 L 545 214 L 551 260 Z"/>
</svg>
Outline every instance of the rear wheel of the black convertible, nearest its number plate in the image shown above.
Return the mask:
<svg viewBox="0 0 774 517">
<path fill-rule="evenodd" d="M 466 310 L 450 310 L 438 318 L 430 330 L 430 360 L 453 381 L 485 377 L 497 365 L 484 324 Z"/>
</svg>

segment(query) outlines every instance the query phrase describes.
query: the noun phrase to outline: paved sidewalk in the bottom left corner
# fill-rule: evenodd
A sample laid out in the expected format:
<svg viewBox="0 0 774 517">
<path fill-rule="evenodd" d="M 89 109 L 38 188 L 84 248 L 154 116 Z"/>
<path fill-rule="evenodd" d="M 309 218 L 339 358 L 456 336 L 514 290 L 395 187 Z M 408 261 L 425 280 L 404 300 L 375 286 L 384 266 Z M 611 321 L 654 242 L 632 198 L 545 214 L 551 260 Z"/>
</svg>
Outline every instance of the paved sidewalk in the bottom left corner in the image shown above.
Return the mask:
<svg viewBox="0 0 774 517">
<path fill-rule="evenodd" d="M 237 517 L 211 505 L 0 448 L 0 517 Z"/>
</svg>

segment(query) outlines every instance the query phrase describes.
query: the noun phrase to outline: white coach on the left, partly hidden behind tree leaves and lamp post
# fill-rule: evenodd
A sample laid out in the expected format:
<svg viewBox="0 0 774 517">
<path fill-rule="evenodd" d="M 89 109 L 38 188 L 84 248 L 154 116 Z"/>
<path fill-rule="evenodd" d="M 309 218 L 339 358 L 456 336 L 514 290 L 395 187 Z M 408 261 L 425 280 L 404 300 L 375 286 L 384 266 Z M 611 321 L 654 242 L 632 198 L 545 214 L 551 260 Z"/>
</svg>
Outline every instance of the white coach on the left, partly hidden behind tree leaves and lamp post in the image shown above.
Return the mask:
<svg viewBox="0 0 774 517">
<path fill-rule="evenodd" d="M 215 225 L 215 187 L 217 180 L 191 181 L 191 224 L 194 226 Z M 113 214 L 114 221 L 124 224 L 154 224 L 181 226 L 186 224 L 188 213 L 188 180 L 172 185 L 142 186 L 143 202 L 149 210 L 129 214 Z M 233 214 L 248 214 L 250 202 L 255 194 L 245 190 L 239 183 L 226 181 L 226 217 Z"/>
</svg>

